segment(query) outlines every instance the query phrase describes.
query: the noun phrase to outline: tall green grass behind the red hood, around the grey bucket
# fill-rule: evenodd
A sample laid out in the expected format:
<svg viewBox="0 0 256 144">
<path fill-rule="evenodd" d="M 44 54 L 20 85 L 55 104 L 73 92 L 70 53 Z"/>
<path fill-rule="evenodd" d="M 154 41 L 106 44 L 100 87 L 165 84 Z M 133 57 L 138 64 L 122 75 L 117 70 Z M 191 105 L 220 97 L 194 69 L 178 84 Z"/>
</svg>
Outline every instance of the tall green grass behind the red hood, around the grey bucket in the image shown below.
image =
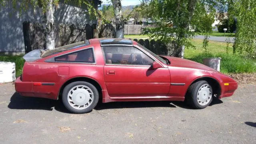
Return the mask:
<svg viewBox="0 0 256 144">
<path fill-rule="evenodd" d="M 222 58 L 220 61 L 220 72 L 228 73 L 252 73 L 256 72 L 256 61 L 252 59 L 244 59 L 235 54 L 217 53 L 212 54 L 203 52 L 197 54 L 189 60 L 202 63 L 203 58 Z"/>
</svg>

